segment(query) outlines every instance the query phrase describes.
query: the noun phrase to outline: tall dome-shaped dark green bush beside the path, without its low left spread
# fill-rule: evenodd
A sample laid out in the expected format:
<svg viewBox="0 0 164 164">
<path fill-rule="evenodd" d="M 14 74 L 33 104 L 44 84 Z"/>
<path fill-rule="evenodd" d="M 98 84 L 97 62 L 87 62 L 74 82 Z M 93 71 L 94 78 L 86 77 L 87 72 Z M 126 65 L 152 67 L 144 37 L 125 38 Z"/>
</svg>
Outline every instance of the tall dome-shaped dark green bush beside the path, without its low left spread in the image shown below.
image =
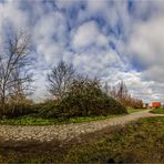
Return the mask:
<svg viewBox="0 0 164 164">
<path fill-rule="evenodd" d="M 74 115 L 106 115 L 126 113 L 126 109 L 102 92 L 96 81 L 75 81 L 61 102 L 63 110 Z"/>
</svg>

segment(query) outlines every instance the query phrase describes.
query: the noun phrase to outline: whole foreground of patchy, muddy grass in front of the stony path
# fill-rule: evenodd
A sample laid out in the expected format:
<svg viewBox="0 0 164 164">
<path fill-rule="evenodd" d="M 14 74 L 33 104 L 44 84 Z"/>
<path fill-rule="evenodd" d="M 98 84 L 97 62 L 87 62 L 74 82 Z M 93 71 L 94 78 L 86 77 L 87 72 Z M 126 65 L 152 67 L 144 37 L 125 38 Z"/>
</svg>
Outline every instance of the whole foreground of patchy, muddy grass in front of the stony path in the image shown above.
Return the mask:
<svg viewBox="0 0 164 164">
<path fill-rule="evenodd" d="M 164 163 L 164 117 L 142 119 L 125 127 L 102 130 L 72 141 L 42 143 L 25 147 L 17 143 L 3 148 L 0 144 L 0 163 Z M 44 145 L 44 146 L 43 146 Z"/>
</svg>

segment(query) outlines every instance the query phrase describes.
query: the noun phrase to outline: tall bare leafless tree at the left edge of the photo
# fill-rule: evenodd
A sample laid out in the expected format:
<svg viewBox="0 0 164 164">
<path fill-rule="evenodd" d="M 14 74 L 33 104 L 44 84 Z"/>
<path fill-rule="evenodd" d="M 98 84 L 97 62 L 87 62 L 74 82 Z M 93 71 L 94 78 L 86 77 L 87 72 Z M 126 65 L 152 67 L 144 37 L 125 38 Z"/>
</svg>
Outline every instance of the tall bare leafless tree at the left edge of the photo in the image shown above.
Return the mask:
<svg viewBox="0 0 164 164">
<path fill-rule="evenodd" d="M 32 74 L 25 70 L 30 64 L 30 37 L 23 32 L 8 35 L 0 54 L 0 104 L 1 114 L 11 96 L 25 93 L 27 83 L 31 82 Z"/>
</svg>

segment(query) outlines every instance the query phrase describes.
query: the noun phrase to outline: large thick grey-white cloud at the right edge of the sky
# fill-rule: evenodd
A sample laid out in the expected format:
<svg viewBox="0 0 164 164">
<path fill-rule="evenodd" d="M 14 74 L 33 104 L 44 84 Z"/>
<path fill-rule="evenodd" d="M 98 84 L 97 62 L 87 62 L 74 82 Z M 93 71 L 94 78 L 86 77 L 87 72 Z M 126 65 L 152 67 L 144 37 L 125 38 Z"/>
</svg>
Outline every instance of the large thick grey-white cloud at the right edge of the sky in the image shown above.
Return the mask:
<svg viewBox="0 0 164 164">
<path fill-rule="evenodd" d="M 164 82 L 163 25 L 163 17 L 136 24 L 129 44 L 130 58 L 136 58 L 146 68 L 143 75 L 161 82 Z"/>
</svg>

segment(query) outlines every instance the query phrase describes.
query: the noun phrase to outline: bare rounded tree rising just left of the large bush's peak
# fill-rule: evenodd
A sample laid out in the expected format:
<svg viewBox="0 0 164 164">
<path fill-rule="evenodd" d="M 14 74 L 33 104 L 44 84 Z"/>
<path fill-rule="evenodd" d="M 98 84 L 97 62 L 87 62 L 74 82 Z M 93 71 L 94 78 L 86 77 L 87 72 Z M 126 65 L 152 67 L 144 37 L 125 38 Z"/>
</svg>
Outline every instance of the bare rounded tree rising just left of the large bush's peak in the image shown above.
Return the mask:
<svg viewBox="0 0 164 164">
<path fill-rule="evenodd" d="M 48 74 L 48 91 L 55 99 L 63 99 L 75 78 L 75 70 L 72 64 L 61 61 Z"/>
</svg>

